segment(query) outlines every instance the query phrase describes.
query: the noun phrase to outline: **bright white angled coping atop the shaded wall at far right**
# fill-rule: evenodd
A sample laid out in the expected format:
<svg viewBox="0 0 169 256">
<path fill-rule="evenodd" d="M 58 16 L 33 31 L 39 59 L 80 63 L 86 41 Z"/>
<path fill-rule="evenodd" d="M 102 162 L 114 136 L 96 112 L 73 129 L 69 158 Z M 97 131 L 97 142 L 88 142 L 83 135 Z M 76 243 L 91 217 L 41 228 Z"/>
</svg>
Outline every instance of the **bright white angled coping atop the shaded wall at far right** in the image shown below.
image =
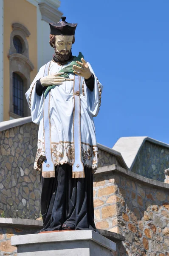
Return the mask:
<svg viewBox="0 0 169 256">
<path fill-rule="evenodd" d="M 121 137 L 113 146 L 115 151 L 121 153 L 125 163 L 129 170 L 132 169 L 139 152 L 145 141 L 160 145 L 164 148 L 169 148 L 169 144 L 163 143 L 159 140 L 152 139 L 150 137 Z"/>
</svg>

